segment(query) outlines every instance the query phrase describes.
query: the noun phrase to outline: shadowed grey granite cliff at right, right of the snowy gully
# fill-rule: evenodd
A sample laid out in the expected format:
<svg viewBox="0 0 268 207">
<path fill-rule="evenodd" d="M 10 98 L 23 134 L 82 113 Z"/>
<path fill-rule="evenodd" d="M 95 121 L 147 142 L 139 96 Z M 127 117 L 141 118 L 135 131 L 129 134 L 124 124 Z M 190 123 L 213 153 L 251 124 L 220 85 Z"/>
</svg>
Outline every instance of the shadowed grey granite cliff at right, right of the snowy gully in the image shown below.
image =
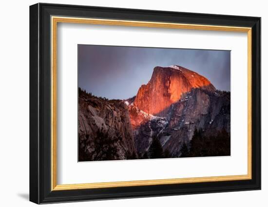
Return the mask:
<svg viewBox="0 0 268 207">
<path fill-rule="evenodd" d="M 207 136 L 223 129 L 230 134 L 230 93 L 192 89 L 171 105 L 167 119 L 167 128 L 158 136 L 164 149 L 179 156 L 182 144 L 189 144 L 195 129 Z"/>
</svg>

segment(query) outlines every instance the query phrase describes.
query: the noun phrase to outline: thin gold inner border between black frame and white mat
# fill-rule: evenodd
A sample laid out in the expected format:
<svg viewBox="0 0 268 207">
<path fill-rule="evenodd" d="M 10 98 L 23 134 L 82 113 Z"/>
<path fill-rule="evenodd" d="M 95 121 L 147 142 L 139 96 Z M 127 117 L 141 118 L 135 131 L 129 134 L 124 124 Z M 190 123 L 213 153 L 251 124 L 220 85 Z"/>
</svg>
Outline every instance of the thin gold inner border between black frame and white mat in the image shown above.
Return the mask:
<svg viewBox="0 0 268 207">
<path fill-rule="evenodd" d="M 193 29 L 208 31 L 228 31 L 228 32 L 246 32 L 248 35 L 248 174 L 212 176 L 212 177 L 194 177 L 194 178 L 176 178 L 159 180 L 139 180 L 139 181 L 120 181 L 104 183 L 84 183 L 84 184 L 64 184 L 57 185 L 57 23 L 82 23 L 82 24 L 101 24 L 101 25 L 120 25 L 136 27 L 158 27 L 173 29 Z M 251 28 L 233 27 L 202 24 L 181 24 L 167 22 L 134 21 L 134 20 L 116 20 L 116 19 L 89 19 L 74 17 L 51 17 L 51 190 L 75 190 L 90 188 L 117 188 L 133 186 L 151 186 L 151 185 L 169 185 L 200 182 L 219 182 L 249 180 L 252 178 L 252 143 L 251 143 Z"/>
</svg>

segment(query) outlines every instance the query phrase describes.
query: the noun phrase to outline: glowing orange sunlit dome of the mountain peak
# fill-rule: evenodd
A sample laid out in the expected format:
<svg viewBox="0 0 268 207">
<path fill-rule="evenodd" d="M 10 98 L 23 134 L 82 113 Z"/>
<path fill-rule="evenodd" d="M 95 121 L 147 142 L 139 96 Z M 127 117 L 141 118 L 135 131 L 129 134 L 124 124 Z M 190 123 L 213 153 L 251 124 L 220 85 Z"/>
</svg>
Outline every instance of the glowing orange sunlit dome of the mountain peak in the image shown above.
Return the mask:
<svg viewBox="0 0 268 207">
<path fill-rule="evenodd" d="M 145 113 L 166 117 L 169 107 L 193 88 L 216 90 L 206 77 L 189 69 L 157 66 L 150 81 L 139 88 L 134 106 Z"/>
</svg>

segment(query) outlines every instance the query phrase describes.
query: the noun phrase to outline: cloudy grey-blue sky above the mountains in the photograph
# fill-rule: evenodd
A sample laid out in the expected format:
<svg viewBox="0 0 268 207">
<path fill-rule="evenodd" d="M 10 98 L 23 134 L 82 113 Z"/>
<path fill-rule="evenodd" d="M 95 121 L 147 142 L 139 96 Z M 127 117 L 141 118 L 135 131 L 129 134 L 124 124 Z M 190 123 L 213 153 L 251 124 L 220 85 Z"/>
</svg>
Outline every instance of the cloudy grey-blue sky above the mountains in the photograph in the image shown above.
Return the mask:
<svg viewBox="0 0 268 207">
<path fill-rule="evenodd" d="M 153 68 L 180 65 L 230 91 L 230 51 L 78 45 L 78 86 L 94 95 L 126 99 L 150 80 Z"/>
</svg>

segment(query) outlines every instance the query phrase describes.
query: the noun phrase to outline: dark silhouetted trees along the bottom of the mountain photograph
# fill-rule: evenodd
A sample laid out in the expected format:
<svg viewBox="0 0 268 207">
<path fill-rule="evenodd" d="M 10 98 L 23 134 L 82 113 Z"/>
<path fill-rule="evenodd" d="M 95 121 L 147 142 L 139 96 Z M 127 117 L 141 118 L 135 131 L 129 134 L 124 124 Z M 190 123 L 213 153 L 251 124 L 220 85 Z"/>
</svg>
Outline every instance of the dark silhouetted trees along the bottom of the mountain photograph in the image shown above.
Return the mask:
<svg viewBox="0 0 268 207">
<path fill-rule="evenodd" d="M 101 137 L 101 139 L 97 138 Z M 86 139 L 80 140 L 79 157 L 81 161 L 114 160 L 118 156 L 116 144 L 120 137 L 113 136 L 108 132 L 99 130 L 95 138 L 86 135 Z M 88 152 L 89 145 L 93 145 L 95 150 Z M 144 154 L 136 155 L 126 152 L 125 159 L 159 159 L 174 157 L 206 157 L 206 156 L 228 156 L 230 155 L 230 135 L 226 130 L 219 131 L 211 136 L 206 136 L 202 130 L 195 129 L 190 143 L 183 143 L 180 155 L 172 155 L 169 150 L 163 147 L 156 136 L 153 136 L 152 144 Z"/>
</svg>

